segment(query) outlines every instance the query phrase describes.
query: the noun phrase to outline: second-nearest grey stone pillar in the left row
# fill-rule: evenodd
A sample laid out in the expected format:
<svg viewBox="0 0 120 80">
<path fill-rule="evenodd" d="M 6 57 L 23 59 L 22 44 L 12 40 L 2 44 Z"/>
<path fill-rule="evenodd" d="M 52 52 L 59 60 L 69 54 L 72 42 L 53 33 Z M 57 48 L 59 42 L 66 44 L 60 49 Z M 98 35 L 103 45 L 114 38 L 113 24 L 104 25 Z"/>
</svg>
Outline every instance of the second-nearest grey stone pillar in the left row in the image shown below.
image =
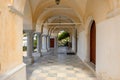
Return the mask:
<svg viewBox="0 0 120 80">
<path fill-rule="evenodd" d="M 42 56 L 41 53 L 41 47 L 42 47 L 42 36 L 40 32 L 37 32 L 37 53 L 40 54 L 40 56 Z"/>
</svg>

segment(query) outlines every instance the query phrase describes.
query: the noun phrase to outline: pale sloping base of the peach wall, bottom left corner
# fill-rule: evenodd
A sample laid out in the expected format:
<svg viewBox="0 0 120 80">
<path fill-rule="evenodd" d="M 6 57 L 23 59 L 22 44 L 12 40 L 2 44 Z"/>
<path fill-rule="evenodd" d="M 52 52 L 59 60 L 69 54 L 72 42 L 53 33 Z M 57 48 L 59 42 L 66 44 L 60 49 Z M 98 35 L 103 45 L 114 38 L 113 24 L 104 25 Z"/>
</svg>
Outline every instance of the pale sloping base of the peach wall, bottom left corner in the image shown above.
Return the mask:
<svg viewBox="0 0 120 80">
<path fill-rule="evenodd" d="M 23 63 L 16 68 L 0 75 L 0 80 L 26 80 L 26 65 Z"/>
</svg>

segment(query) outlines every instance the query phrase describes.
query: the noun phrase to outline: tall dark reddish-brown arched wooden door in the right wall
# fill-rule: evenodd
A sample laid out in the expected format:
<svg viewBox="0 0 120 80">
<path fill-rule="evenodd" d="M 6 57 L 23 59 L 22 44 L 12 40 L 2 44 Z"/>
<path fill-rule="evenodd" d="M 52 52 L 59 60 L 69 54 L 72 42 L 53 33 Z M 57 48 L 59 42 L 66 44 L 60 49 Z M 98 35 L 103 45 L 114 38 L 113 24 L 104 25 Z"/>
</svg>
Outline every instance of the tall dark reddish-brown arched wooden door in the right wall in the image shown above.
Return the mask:
<svg viewBox="0 0 120 80">
<path fill-rule="evenodd" d="M 90 31 L 90 61 L 96 64 L 96 25 L 93 21 Z"/>
</svg>

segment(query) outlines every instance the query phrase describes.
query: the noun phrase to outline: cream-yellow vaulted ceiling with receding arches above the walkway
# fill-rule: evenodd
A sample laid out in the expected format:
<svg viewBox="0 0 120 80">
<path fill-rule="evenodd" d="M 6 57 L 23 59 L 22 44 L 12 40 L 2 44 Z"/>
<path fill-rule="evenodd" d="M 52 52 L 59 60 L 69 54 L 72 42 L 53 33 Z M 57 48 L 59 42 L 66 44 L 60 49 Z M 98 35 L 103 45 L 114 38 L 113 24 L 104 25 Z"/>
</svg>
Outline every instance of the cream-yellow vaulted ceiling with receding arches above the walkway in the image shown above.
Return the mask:
<svg viewBox="0 0 120 80">
<path fill-rule="evenodd" d="M 43 26 L 45 23 L 49 24 L 47 28 L 51 28 L 51 26 L 57 27 L 58 23 L 64 23 L 60 28 L 71 28 L 68 26 L 75 24 L 80 25 L 83 23 L 85 17 L 88 17 L 89 15 L 95 15 L 95 17 L 98 16 L 95 13 L 93 14 L 93 11 L 99 14 L 104 7 L 103 10 L 106 11 L 103 14 L 99 14 L 100 19 L 98 20 L 100 21 L 105 18 L 104 16 L 109 11 L 108 4 L 108 0 L 60 0 L 59 5 L 55 3 L 55 0 L 27 0 L 24 9 L 24 25 L 31 27 L 32 29 L 35 28 L 36 25 Z"/>
</svg>

